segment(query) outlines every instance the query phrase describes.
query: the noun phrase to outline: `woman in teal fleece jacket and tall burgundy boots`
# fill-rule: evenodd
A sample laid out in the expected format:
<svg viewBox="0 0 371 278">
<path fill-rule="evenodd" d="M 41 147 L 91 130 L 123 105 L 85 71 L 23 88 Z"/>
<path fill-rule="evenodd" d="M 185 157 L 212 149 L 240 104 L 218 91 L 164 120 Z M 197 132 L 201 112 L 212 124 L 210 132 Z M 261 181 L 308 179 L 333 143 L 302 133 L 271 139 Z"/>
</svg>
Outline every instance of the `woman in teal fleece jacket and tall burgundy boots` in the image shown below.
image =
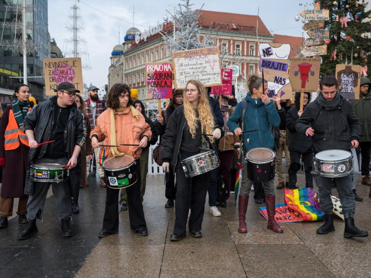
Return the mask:
<svg viewBox="0 0 371 278">
<path fill-rule="evenodd" d="M 264 82 L 263 86 L 263 79 L 257 75 L 252 75 L 247 85 L 249 86 L 249 92 L 245 99 L 237 104 L 236 109 L 228 120 L 228 128 L 235 135 L 242 135 L 241 149 L 243 155 L 241 157 L 244 157 L 249 150 L 255 148 L 273 150 L 275 141 L 272 136 L 271 127 L 277 128 L 280 124 L 280 117 L 273 101 L 270 101 L 269 97 L 264 93 L 267 90 L 268 83 Z M 273 100 L 278 101 L 276 97 L 273 97 Z M 243 122 L 243 130 L 239 126 L 240 122 Z M 256 131 L 247 132 L 248 130 Z M 247 232 L 245 219 L 252 182 L 247 177 L 246 160 L 242 159 L 242 182 L 240 195 L 238 196 L 238 231 L 240 233 Z M 272 229 L 274 232 L 283 233 L 282 228 L 276 223 L 274 218 L 276 205 L 274 179 L 263 182 L 263 188 L 268 213 L 267 228 Z"/>
</svg>

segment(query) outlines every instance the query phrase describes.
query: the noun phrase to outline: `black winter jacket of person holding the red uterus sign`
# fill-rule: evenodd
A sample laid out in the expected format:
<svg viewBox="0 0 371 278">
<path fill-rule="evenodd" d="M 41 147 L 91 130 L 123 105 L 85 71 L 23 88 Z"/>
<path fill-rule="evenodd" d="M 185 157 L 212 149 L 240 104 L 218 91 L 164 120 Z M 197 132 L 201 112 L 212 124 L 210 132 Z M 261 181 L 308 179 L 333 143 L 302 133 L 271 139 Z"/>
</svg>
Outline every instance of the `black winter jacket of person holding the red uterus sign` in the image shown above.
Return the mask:
<svg viewBox="0 0 371 278">
<path fill-rule="evenodd" d="M 311 94 L 308 102 L 311 101 Z M 304 106 L 305 109 L 305 106 Z M 311 136 L 298 133 L 295 128 L 296 120 L 299 119 L 298 112 L 300 110 L 300 93 L 295 94 L 295 107 L 292 107 L 286 115 L 286 128 L 289 130 L 289 150 L 295 152 L 307 153 L 312 152 L 313 142 Z"/>
</svg>

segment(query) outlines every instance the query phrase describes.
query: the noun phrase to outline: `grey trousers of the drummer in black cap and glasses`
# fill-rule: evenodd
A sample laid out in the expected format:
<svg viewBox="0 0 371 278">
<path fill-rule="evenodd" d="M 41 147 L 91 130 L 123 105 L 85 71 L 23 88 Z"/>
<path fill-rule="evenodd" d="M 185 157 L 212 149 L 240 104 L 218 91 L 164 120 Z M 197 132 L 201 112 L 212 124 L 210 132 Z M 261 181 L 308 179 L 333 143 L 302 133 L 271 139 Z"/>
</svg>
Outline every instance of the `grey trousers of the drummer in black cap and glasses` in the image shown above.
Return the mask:
<svg viewBox="0 0 371 278">
<path fill-rule="evenodd" d="M 67 164 L 66 158 L 59 159 L 34 159 L 33 164 L 36 163 L 59 163 Z M 43 221 L 43 209 L 45 199 L 50 185 L 52 185 L 53 195 L 57 203 L 58 218 L 70 218 L 72 215 L 71 205 L 71 188 L 69 182 L 34 182 L 35 192 L 30 195 L 27 202 L 27 218 L 33 220 L 35 218 Z"/>
</svg>

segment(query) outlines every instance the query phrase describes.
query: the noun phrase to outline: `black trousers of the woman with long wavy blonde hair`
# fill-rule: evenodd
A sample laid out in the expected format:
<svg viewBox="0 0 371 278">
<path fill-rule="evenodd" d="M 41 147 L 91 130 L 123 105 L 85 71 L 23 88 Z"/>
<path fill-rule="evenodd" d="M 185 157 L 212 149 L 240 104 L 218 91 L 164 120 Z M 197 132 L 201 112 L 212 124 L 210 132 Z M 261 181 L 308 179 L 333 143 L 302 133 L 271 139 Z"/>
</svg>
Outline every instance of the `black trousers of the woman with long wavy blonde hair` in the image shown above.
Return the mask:
<svg viewBox="0 0 371 278">
<path fill-rule="evenodd" d="M 174 234 L 186 234 L 188 211 L 191 216 L 188 221 L 190 231 L 201 230 L 205 212 L 206 193 L 209 188 L 210 172 L 187 178 L 181 167 L 177 165 L 177 193 L 175 197 L 175 225 Z"/>
</svg>

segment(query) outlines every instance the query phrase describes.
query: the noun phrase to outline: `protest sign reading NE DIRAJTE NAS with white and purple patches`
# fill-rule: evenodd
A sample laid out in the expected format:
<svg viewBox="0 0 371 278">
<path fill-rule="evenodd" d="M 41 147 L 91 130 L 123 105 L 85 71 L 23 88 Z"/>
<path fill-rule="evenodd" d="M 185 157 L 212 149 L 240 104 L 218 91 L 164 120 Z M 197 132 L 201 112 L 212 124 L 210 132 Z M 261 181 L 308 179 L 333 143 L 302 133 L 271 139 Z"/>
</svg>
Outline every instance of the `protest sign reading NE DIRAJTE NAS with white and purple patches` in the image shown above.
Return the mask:
<svg viewBox="0 0 371 278">
<path fill-rule="evenodd" d="M 290 44 L 260 43 L 259 54 L 264 80 L 268 82 L 268 96 L 279 95 L 281 99 L 291 99 L 289 80 Z"/>
</svg>

